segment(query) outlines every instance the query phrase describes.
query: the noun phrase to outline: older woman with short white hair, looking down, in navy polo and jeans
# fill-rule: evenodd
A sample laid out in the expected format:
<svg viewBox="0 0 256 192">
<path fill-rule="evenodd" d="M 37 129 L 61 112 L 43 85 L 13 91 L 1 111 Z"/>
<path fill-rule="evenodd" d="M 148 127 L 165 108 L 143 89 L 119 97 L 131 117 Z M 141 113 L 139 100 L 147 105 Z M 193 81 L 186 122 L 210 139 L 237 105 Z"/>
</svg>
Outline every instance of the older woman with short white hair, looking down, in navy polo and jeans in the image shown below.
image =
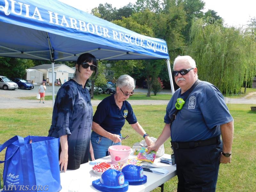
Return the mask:
<svg viewBox="0 0 256 192">
<path fill-rule="evenodd" d="M 122 75 L 116 81 L 116 92 L 103 99 L 92 119 L 91 143 L 95 159 L 108 156 L 108 147 L 121 145 L 121 130 L 125 120 L 143 136 L 148 146 L 153 144 L 149 135 L 141 127 L 131 104 L 127 99 L 133 95 L 134 80 Z"/>
</svg>

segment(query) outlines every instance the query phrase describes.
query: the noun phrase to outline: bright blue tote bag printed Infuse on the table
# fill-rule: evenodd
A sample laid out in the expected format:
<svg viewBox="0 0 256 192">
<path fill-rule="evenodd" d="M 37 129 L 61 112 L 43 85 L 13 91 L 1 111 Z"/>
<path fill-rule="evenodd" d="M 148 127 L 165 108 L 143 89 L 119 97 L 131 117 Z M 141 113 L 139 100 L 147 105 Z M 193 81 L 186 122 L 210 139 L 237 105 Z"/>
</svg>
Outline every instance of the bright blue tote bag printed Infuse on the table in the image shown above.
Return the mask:
<svg viewBox="0 0 256 192">
<path fill-rule="evenodd" d="M 14 136 L 0 146 L 6 148 L 3 191 L 58 192 L 60 185 L 59 138 Z"/>
</svg>

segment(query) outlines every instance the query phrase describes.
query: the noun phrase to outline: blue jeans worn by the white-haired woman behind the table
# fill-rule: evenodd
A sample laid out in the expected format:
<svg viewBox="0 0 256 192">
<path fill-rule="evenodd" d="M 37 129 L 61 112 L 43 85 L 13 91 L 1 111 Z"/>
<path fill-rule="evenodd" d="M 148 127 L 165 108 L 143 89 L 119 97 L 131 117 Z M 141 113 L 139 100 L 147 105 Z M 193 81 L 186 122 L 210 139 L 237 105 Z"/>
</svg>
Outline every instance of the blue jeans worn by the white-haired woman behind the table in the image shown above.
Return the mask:
<svg viewBox="0 0 256 192">
<path fill-rule="evenodd" d="M 121 134 L 119 135 L 121 136 Z M 121 142 L 114 143 L 112 140 L 103 137 L 94 131 L 91 133 L 91 143 L 95 159 L 108 156 L 108 147 L 112 145 L 121 145 Z"/>
</svg>

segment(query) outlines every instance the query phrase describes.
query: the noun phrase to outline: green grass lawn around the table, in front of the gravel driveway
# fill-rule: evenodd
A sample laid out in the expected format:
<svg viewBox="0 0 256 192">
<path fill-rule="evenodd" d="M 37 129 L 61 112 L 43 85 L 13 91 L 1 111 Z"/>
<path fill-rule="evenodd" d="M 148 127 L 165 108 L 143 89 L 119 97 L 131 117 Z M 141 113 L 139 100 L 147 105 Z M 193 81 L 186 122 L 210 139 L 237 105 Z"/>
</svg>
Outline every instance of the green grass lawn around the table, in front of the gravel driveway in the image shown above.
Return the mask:
<svg viewBox="0 0 256 192">
<path fill-rule="evenodd" d="M 102 94 L 105 95 L 105 94 Z M 156 95 L 158 96 L 158 95 Z M 159 94 L 159 96 L 161 96 Z M 161 96 L 164 97 L 164 96 Z M 170 97 L 170 95 L 169 95 Z M 135 98 L 135 95 L 131 97 Z M 153 97 L 152 97 L 153 98 Z M 169 99 L 168 99 L 169 100 Z M 235 119 L 234 143 L 232 148 L 232 163 L 221 164 L 217 183 L 218 192 L 250 192 L 256 187 L 256 112 L 251 111 L 251 105 L 229 104 L 228 108 Z M 158 137 L 164 127 L 163 118 L 166 105 L 135 105 L 133 110 L 139 123 L 150 136 Z M 96 106 L 93 107 L 94 111 Z M 52 108 L 33 109 L 2 109 L 0 118 L 0 143 L 15 135 L 47 136 L 52 120 Z M 131 146 L 142 140 L 129 124 L 122 129 L 123 135 L 130 137 L 123 145 Z M 165 142 L 165 153 L 171 153 L 170 139 Z M 4 160 L 4 151 L 0 153 Z M 0 164 L 1 181 L 3 181 L 4 164 Z M 177 190 L 177 177 L 164 184 L 164 191 Z M 160 191 L 156 188 L 153 192 Z"/>
</svg>

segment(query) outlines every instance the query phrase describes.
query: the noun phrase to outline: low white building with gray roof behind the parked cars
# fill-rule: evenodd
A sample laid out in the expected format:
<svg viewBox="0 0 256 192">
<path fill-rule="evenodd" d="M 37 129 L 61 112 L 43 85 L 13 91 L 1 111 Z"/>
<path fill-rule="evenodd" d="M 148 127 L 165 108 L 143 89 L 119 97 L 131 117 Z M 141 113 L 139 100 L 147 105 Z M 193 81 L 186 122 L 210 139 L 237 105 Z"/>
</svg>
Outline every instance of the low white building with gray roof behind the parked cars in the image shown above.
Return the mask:
<svg viewBox="0 0 256 192">
<path fill-rule="evenodd" d="M 29 69 L 36 69 L 43 73 L 43 80 L 47 83 L 52 83 L 52 64 L 43 64 Z M 60 79 L 61 83 L 65 83 L 69 79 L 74 77 L 76 69 L 70 68 L 65 64 L 54 64 L 53 68 L 54 80 L 53 83 L 57 82 L 57 79 Z"/>
</svg>

